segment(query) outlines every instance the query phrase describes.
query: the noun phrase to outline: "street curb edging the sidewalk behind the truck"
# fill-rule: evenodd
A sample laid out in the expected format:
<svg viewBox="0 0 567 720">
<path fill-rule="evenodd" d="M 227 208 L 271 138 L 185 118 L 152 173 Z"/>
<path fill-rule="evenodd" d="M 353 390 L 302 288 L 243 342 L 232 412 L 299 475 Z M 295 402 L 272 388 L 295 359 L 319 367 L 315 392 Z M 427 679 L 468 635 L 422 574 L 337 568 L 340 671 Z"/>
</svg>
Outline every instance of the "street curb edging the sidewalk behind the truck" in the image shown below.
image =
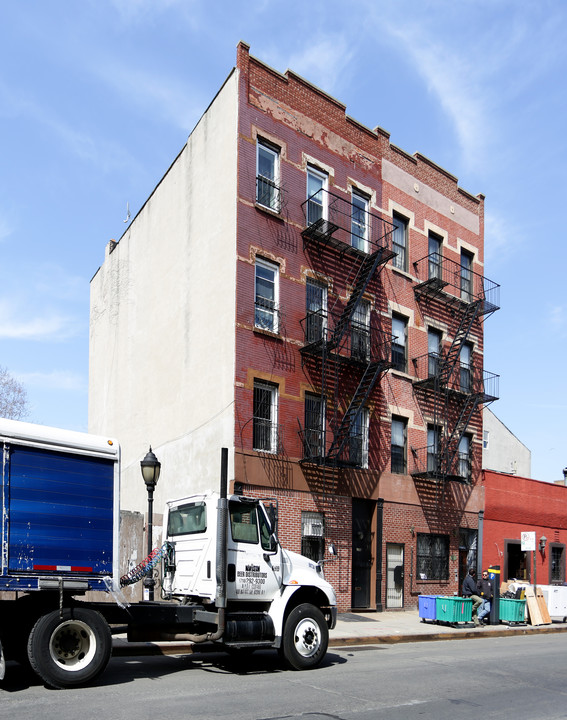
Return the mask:
<svg viewBox="0 0 567 720">
<path fill-rule="evenodd" d="M 478 640 L 480 638 L 512 637 L 514 635 L 538 635 L 567 632 L 567 627 L 512 627 L 506 625 L 502 629 L 456 630 L 455 632 L 433 632 L 425 634 L 369 635 L 365 637 L 329 638 L 329 647 L 352 647 L 353 645 L 399 645 L 401 643 L 431 642 L 437 640 Z M 134 657 L 148 655 L 192 655 L 194 643 L 190 642 L 143 642 L 129 643 L 124 640 L 113 640 L 113 657 Z M 208 650 L 210 651 L 210 647 Z M 220 648 L 219 648 L 220 650 Z M 197 651 L 199 652 L 199 650 Z"/>
</svg>

